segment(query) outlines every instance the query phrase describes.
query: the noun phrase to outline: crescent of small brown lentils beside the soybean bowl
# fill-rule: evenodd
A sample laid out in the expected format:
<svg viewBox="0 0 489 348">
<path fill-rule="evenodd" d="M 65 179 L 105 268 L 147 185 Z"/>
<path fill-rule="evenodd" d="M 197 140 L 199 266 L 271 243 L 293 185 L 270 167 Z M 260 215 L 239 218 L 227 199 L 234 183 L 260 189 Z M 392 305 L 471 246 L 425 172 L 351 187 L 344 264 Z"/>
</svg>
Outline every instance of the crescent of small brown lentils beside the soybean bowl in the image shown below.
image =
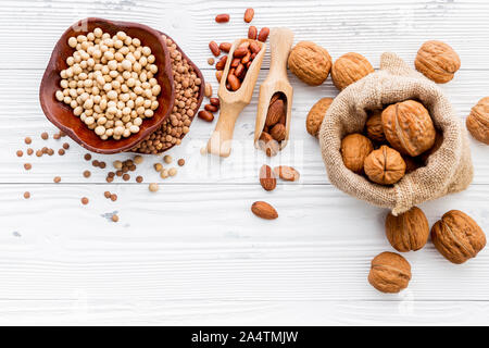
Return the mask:
<svg viewBox="0 0 489 348">
<path fill-rule="evenodd" d="M 163 36 L 170 50 L 175 86 L 175 104 L 172 114 L 162 126 L 139 142 L 133 151 L 156 154 L 174 145 L 180 145 L 190 130 L 190 124 L 197 113 L 202 80 L 191 64 L 183 57 L 175 42 Z"/>
</svg>

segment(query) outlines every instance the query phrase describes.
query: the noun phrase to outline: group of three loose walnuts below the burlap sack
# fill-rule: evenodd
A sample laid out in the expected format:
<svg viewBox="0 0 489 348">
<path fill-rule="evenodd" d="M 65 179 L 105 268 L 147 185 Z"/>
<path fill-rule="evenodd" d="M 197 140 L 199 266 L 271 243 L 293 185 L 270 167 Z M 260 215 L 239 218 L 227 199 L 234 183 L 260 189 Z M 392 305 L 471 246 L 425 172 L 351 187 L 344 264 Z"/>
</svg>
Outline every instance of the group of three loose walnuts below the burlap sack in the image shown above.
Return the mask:
<svg viewBox="0 0 489 348">
<path fill-rule="evenodd" d="M 425 213 L 417 207 L 386 219 L 386 236 L 399 252 L 422 249 L 431 235 L 435 248 L 450 262 L 460 264 L 475 258 L 486 246 L 486 235 L 467 214 L 451 210 L 429 231 Z M 383 252 L 371 263 L 368 282 L 383 293 L 399 293 L 411 281 L 411 265 L 401 254 Z"/>
</svg>

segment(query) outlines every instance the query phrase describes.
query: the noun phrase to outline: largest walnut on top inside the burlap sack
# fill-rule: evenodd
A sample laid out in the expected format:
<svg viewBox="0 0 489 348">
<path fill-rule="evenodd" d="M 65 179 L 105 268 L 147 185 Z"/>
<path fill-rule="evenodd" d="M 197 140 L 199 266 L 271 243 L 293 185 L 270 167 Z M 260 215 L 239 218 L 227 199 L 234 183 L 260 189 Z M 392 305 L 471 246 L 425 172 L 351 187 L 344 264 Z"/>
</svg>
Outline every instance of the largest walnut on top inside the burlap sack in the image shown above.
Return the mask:
<svg viewBox="0 0 489 348">
<path fill-rule="evenodd" d="M 384 133 L 399 152 L 416 157 L 435 144 L 436 130 L 431 116 L 422 103 L 406 100 L 383 111 Z"/>
</svg>

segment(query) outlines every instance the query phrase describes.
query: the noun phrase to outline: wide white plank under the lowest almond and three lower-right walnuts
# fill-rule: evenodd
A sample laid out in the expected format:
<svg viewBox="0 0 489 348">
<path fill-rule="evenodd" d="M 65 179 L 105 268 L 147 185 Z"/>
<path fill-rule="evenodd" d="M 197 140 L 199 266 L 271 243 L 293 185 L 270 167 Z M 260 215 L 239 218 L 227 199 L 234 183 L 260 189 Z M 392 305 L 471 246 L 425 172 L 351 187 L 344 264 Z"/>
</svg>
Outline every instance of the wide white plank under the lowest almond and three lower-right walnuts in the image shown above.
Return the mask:
<svg viewBox="0 0 489 348">
<path fill-rule="evenodd" d="M 392 250 L 386 211 L 330 186 L 0 185 L 0 299 L 398 300 L 366 276 Z M 30 200 L 22 192 L 29 190 Z M 116 202 L 103 191 L 118 195 Z M 488 231 L 489 187 L 423 204 L 432 224 L 450 209 Z M 79 199 L 90 199 L 82 206 Z M 266 200 L 279 217 L 250 206 Z M 118 223 L 109 221 L 117 212 Z M 429 243 L 406 253 L 414 300 L 489 300 L 489 254 L 454 265 Z"/>
</svg>

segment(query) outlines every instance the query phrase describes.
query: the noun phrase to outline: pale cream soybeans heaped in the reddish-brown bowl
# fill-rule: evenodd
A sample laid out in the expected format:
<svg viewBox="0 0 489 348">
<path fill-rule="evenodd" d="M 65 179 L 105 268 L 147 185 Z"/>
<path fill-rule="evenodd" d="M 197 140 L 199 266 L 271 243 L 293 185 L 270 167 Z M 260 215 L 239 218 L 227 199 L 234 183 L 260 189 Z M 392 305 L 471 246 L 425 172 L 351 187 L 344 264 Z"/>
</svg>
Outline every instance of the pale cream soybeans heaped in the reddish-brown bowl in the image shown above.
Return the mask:
<svg viewBox="0 0 489 348">
<path fill-rule="evenodd" d="M 138 133 L 159 107 L 161 86 L 151 49 L 124 32 L 111 37 L 101 28 L 70 37 L 67 44 L 75 52 L 60 73 L 55 98 L 103 140 Z"/>
</svg>

